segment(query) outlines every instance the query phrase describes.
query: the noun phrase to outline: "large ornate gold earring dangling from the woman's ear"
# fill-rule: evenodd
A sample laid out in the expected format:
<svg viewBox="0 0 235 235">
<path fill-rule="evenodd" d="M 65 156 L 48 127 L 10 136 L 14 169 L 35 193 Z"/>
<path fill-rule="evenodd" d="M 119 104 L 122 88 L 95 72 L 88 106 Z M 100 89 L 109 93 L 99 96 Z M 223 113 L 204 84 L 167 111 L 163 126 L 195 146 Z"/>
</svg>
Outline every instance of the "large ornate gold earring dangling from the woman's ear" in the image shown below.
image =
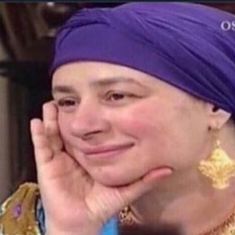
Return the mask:
<svg viewBox="0 0 235 235">
<path fill-rule="evenodd" d="M 216 189 L 229 186 L 229 179 L 235 176 L 235 161 L 233 161 L 221 147 L 218 129 L 215 130 L 215 147 L 207 160 L 199 163 L 199 171 L 212 180 Z"/>
</svg>

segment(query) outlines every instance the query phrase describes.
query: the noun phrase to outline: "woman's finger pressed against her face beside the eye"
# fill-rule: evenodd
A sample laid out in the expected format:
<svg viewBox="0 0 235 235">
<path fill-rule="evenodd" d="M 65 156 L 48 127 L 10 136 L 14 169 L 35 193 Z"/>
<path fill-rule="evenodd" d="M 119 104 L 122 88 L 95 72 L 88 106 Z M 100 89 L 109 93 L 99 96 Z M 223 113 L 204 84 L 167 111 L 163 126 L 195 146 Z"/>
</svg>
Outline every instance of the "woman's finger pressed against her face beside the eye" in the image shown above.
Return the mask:
<svg viewBox="0 0 235 235">
<path fill-rule="evenodd" d="M 57 108 L 53 101 L 47 102 L 43 105 L 43 123 L 45 132 L 54 153 L 61 151 L 63 147 L 57 116 Z"/>
</svg>

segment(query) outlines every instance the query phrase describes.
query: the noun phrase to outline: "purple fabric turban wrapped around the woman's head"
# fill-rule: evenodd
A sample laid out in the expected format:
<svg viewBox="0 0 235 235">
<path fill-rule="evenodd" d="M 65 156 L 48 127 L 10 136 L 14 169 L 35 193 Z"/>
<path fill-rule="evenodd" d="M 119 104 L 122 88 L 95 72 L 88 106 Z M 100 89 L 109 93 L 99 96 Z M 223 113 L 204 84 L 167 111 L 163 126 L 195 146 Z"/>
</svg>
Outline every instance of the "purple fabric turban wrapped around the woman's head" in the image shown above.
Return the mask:
<svg viewBox="0 0 235 235">
<path fill-rule="evenodd" d="M 235 16 L 193 3 L 83 9 L 59 30 L 51 72 L 74 61 L 128 66 L 235 114 Z"/>
</svg>

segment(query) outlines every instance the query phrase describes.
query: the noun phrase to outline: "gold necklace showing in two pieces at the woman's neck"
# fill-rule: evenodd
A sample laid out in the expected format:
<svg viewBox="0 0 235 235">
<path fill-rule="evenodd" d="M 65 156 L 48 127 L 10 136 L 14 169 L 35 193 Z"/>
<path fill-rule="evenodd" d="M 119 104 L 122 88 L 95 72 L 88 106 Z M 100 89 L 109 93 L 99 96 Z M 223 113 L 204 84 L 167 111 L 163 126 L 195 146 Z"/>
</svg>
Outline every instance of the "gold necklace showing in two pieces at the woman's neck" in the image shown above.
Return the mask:
<svg viewBox="0 0 235 235">
<path fill-rule="evenodd" d="M 122 211 L 120 211 L 118 217 L 121 226 L 137 224 L 137 219 L 129 206 L 126 206 Z M 235 212 L 227 216 L 226 219 L 215 228 L 207 232 L 200 233 L 199 235 L 235 235 Z"/>
</svg>

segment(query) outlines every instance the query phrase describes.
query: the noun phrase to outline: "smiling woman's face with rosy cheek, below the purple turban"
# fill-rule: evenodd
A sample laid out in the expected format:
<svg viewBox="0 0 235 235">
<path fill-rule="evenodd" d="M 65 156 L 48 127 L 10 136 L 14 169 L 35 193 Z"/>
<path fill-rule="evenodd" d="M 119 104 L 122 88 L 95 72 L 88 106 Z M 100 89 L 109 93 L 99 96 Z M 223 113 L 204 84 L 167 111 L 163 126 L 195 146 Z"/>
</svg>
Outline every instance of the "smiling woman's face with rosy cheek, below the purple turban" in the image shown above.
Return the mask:
<svg viewBox="0 0 235 235">
<path fill-rule="evenodd" d="M 205 103 L 150 75 L 70 63 L 54 73 L 53 96 L 67 152 L 102 184 L 128 184 L 162 166 L 187 171 L 205 157 Z"/>
</svg>

